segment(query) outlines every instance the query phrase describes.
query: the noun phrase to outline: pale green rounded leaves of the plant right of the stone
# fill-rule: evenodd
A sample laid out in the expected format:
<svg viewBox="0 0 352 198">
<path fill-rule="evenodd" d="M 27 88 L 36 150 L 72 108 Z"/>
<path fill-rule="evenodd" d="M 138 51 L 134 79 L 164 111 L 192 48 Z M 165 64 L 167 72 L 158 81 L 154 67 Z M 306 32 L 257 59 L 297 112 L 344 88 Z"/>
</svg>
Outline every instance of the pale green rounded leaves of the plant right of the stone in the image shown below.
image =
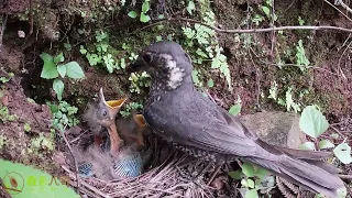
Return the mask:
<svg viewBox="0 0 352 198">
<path fill-rule="evenodd" d="M 317 140 L 328 130 L 329 122 L 315 106 L 308 106 L 301 112 L 301 117 L 299 119 L 299 128 L 307 135 Z M 320 150 L 334 147 L 333 143 L 329 140 L 321 140 L 318 143 L 318 146 Z M 300 147 L 304 150 L 317 150 L 314 142 L 306 142 Z M 337 147 L 334 147 L 333 153 L 343 164 L 352 163 L 351 147 L 348 143 L 339 144 Z"/>
</svg>

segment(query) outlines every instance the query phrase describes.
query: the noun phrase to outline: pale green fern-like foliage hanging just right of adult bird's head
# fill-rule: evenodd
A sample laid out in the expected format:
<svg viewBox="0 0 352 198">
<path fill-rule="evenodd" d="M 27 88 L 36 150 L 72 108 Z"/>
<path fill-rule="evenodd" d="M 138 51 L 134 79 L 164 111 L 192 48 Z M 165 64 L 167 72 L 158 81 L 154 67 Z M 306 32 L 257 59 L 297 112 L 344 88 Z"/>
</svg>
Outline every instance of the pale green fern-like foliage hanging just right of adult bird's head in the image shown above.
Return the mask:
<svg viewBox="0 0 352 198">
<path fill-rule="evenodd" d="M 215 13 L 208 10 L 204 13 L 202 21 L 205 24 L 215 25 Z M 183 33 L 185 36 L 185 45 L 195 48 L 193 52 L 193 61 L 198 65 L 204 65 L 204 62 L 210 61 L 212 69 L 219 69 L 221 77 L 224 77 L 228 82 L 229 90 L 232 90 L 231 73 L 227 63 L 227 57 L 222 54 L 215 30 L 202 24 L 194 24 L 193 26 L 184 26 Z M 195 74 L 194 74 L 195 75 Z M 200 85 L 200 81 L 196 81 Z"/>
</svg>

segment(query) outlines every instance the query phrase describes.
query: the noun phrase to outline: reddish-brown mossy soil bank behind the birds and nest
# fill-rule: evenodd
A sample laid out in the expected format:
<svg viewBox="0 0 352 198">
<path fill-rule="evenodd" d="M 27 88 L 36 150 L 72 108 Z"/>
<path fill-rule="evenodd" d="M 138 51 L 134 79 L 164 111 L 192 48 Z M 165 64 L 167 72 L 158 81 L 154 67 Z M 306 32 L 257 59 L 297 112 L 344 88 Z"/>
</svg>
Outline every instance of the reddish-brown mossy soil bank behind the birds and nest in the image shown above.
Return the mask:
<svg viewBox="0 0 352 198">
<path fill-rule="evenodd" d="M 43 9 L 35 10 L 37 15 L 34 19 L 34 32 L 29 34 L 31 23 L 24 13 L 30 7 L 29 3 L 29 0 L 0 0 L 0 13 L 9 14 L 3 45 L 0 46 L 0 77 L 8 77 L 9 73 L 15 75 L 10 81 L 0 84 L 0 108 L 7 108 L 9 114 L 16 116 L 14 121 L 0 122 L 0 135 L 6 138 L 4 145 L 0 147 L 0 156 L 57 173 L 59 169 L 51 163 L 54 151 L 40 148 L 31 153 L 28 150 L 33 139 L 40 135 L 53 139 L 51 134 L 52 114 L 45 103 L 48 100 L 55 100 L 56 96 L 53 95 L 52 81 L 40 77 L 43 62 L 38 55 L 43 52 L 51 52 L 53 55 L 64 52 L 66 61 L 76 61 L 84 67 L 85 79 L 64 80 L 64 99 L 77 106 L 79 114 L 86 110 L 87 103 L 96 96 L 100 87 L 103 87 L 107 98 L 129 96 L 131 101 L 143 102 L 147 89 L 141 95 L 131 94 L 127 72 L 108 74 L 102 68 L 90 66 L 87 59 L 79 54 L 79 46 L 94 43 L 95 31 L 106 29 L 116 33 L 111 35 L 111 40 L 117 48 L 122 43 L 132 43 L 132 48 L 138 52 L 157 35 L 166 36 L 167 33 L 175 33 L 176 37 L 182 34 L 178 31 L 180 26 L 177 26 L 179 24 L 165 24 L 167 29 L 163 33 L 156 32 L 155 26 L 141 32 L 138 30 L 146 24 L 138 23 L 136 20 L 127 16 L 131 4 L 127 3 L 127 8 L 123 7 L 110 14 L 108 10 L 99 10 L 94 2 L 78 3 L 74 0 L 58 0 L 50 1 L 45 8 L 43 6 Z M 98 4 L 101 6 L 100 9 L 109 8 L 109 3 L 117 6 L 116 1 L 101 3 Z M 138 2 L 136 8 L 140 8 L 141 4 Z M 260 11 L 260 4 L 263 4 L 263 1 L 216 0 L 211 6 L 217 16 L 217 26 L 220 29 L 267 28 L 270 26 L 268 20 L 258 26 L 248 20 L 249 10 L 263 14 Z M 352 7 L 351 3 L 350 7 Z M 180 9 L 183 10 L 179 11 Z M 43 10 L 42 13 L 41 10 Z M 278 16 L 275 22 L 277 26 L 297 25 L 298 18 L 301 16 L 307 25 L 336 25 L 352 29 L 352 22 L 349 19 L 320 0 L 277 1 L 275 10 Z M 168 1 L 152 6 L 151 12 L 153 20 L 161 13 L 189 16 L 183 4 Z M 23 20 L 23 16 L 26 20 Z M 25 38 L 18 36 L 19 30 L 28 34 Z M 79 30 L 85 30 L 85 34 L 78 34 Z M 314 67 L 301 73 L 299 67 L 275 65 L 277 57 L 280 57 L 285 64 L 295 64 L 295 54 L 289 55 L 288 52 L 295 51 L 298 40 L 302 40 L 307 57 Z M 339 133 L 339 138 L 332 140 L 334 143 L 338 144 L 345 140 L 352 145 L 352 40 L 346 33 L 285 31 L 283 34 L 219 34 L 218 41 L 228 57 L 233 87 L 232 92 L 224 90 L 228 87 L 226 80 L 218 72 L 210 72 L 215 87 L 209 88 L 208 91 L 219 106 L 229 109 L 240 98 L 241 114 L 285 111 L 285 107 L 267 98 L 273 81 L 276 81 L 278 96 L 285 96 L 287 88 L 293 87 L 294 100 L 299 101 L 302 107 L 318 105 L 328 117 L 329 122 L 337 123 L 338 132 L 331 130 L 323 138 Z M 246 41 L 251 41 L 250 44 Z M 65 51 L 64 43 L 70 43 L 72 50 Z M 124 51 L 119 53 L 128 56 Z M 299 92 L 304 90 L 308 90 L 308 94 L 299 97 Z M 31 127 L 29 132 L 24 130 L 25 124 Z M 56 143 L 56 147 L 64 147 L 62 141 Z M 340 166 L 344 175 L 352 174 L 351 165 Z M 222 178 L 222 176 L 218 177 L 217 180 Z"/>
</svg>

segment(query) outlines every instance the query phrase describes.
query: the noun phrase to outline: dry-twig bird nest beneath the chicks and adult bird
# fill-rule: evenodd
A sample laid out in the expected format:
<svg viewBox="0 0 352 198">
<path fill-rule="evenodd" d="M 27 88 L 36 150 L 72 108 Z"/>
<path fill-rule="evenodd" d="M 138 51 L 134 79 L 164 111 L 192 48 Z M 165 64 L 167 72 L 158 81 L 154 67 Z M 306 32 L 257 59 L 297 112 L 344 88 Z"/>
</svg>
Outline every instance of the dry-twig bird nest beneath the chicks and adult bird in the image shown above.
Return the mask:
<svg viewBox="0 0 352 198">
<path fill-rule="evenodd" d="M 68 135 L 67 139 L 70 139 Z M 75 142 L 77 138 L 66 140 L 67 143 Z M 76 174 L 73 163 L 58 163 L 69 176 L 69 185 L 79 190 L 85 197 L 213 197 L 219 195 L 215 187 L 206 185 L 205 177 L 197 175 L 205 168 L 201 161 L 187 156 L 170 148 L 163 142 L 154 139 L 147 141 L 153 145 L 154 152 L 151 162 L 145 167 L 145 172 L 138 177 L 121 178 L 113 180 L 102 180 L 96 177 L 81 178 Z M 63 162 L 70 155 L 67 144 L 62 142 L 59 146 Z M 164 150 L 164 151 L 163 151 Z M 165 153 L 162 157 L 161 153 Z M 164 158 L 164 160 L 161 160 Z M 163 161 L 163 162 L 162 162 Z M 210 169 L 211 170 L 211 169 Z M 207 174 L 206 174 L 207 175 Z M 77 177 L 79 177 L 77 183 Z M 196 179 L 197 178 L 197 179 Z M 77 184 L 79 187 L 77 188 Z M 217 193 L 216 193 L 217 191 Z"/>
</svg>

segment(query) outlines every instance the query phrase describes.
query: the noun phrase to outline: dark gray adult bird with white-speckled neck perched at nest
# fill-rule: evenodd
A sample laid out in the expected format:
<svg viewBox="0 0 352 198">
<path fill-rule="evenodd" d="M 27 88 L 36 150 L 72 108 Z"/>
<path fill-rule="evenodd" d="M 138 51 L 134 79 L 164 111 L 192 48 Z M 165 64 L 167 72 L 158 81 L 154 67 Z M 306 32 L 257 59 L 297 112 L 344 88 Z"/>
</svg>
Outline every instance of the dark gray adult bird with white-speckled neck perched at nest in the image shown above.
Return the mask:
<svg viewBox="0 0 352 198">
<path fill-rule="evenodd" d="M 191 79 L 191 59 L 179 44 L 162 41 L 145 47 L 130 70 L 147 70 L 152 76 L 144 119 L 176 147 L 218 164 L 248 161 L 330 197 L 345 190 L 338 169 L 320 161 L 330 153 L 270 145 L 198 92 Z"/>
</svg>

